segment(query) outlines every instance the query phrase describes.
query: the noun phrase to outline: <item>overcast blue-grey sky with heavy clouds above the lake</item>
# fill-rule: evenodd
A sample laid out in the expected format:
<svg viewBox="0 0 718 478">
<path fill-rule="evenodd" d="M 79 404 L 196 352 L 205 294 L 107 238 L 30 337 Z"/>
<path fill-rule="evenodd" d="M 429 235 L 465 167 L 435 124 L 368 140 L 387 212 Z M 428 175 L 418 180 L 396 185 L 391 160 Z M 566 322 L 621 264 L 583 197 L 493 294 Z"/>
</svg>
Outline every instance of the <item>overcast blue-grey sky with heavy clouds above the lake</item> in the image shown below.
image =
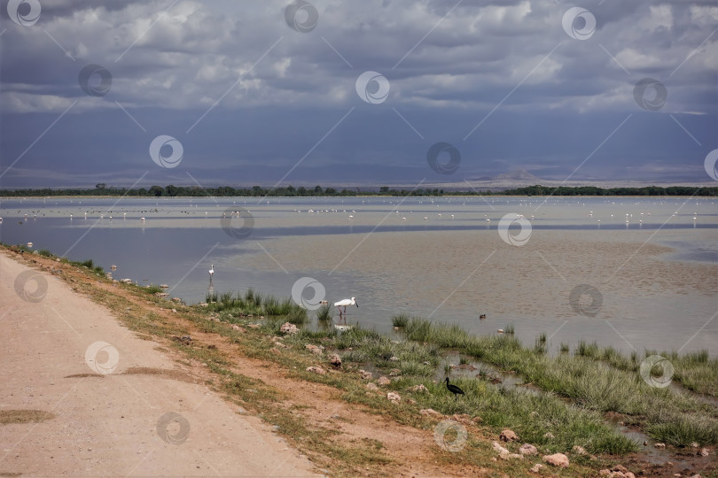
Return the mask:
<svg viewBox="0 0 718 478">
<path fill-rule="evenodd" d="M 710 181 L 716 29 L 715 0 L 3 0 L 0 187 Z"/>
</svg>

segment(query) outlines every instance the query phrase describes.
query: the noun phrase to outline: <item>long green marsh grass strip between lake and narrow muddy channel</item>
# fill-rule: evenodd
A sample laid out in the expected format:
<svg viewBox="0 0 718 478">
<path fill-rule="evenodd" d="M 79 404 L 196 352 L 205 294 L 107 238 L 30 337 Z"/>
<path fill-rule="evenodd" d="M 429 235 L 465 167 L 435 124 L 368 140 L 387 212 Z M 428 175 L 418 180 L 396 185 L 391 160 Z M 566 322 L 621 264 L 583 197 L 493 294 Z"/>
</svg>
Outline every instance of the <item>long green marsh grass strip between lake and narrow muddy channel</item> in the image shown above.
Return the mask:
<svg viewBox="0 0 718 478">
<path fill-rule="evenodd" d="M 571 398 L 582 408 L 632 415 L 649 435 L 666 443 L 718 443 L 718 411 L 714 407 L 670 389 L 652 388 L 635 370 L 605 363 L 595 343 L 579 343 L 574 357 L 550 357 L 545 353 L 545 335 L 537 337 L 534 348 L 527 349 L 505 334 L 477 337 L 457 325 L 428 320 L 410 320 L 406 332 L 410 340 L 454 349 L 512 370 L 543 390 Z M 618 352 L 609 351 L 607 357 L 618 357 Z M 698 364 L 706 361 L 705 354 L 692 359 Z M 680 358 L 675 361 L 683 363 Z"/>
</svg>

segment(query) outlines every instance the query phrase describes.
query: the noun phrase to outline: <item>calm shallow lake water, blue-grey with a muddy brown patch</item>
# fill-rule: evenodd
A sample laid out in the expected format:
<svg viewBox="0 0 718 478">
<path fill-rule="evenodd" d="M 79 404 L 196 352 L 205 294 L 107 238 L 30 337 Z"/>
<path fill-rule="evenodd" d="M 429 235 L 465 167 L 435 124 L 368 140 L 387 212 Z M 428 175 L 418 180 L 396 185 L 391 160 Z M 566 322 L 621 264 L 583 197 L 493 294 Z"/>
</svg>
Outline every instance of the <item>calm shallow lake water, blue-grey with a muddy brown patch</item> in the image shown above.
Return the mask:
<svg viewBox="0 0 718 478">
<path fill-rule="evenodd" d="M 115 279 L 166 283 L 188 304 L 205 299 L 214 264 L 218 293 L 288 297 L 308 277 L 330 302 L 356 297 L 349 323 L 381 331 L 405 312 L 477 334 L 511 324 L 527 344 L 545 333 L 553 351 L 584 339 L 718 355 L 715 206 L 696 197 L 3 199 L 0 241 L 117 265 Z M 506 231 L 510 213 L 522 217 Z"/>
</svg>

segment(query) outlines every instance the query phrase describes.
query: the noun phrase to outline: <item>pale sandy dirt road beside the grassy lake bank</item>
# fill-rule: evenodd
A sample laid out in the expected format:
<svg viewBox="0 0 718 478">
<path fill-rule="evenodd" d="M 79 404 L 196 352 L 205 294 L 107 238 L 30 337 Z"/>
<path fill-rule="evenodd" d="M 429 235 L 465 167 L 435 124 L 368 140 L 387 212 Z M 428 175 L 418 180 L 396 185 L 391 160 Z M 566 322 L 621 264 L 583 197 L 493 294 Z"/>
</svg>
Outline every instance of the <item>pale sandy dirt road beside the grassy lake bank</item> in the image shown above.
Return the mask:
<svg viewBox="0 0 718 478">
<path fill-rule="evenodd" d="M 17 293 L 23 273 L 20 281 L 42 275 L 42 300 Z M 29 279 L 25 290 L 32 296 L 35 287 Z M 108 345 L 92 349 L 98 342 Z M 0 418 L 10 410 L 54 414 L 40 422 L 0 420 L 0 474 L 314 474 L 261 420 L 183 379 L 183 369 L 156 346 L 64 281 L 0 254 Z M 132 374 L 136 367 L 176 374 Z"/>
</svg>

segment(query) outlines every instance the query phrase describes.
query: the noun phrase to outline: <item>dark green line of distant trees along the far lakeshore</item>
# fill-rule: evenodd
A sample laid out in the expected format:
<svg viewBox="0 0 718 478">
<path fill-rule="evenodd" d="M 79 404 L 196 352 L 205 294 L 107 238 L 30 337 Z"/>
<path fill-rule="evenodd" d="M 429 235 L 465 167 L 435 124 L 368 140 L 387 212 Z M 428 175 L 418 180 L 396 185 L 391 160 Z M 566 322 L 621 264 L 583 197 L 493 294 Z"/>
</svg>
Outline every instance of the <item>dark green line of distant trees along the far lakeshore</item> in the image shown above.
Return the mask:
<svg viewBox="0 0 718 478">
<path fill-rule="evenodd" d="M 128 197 L 359 197 L 359 196 L 718 196 L 718 187 L 691 188 L 690 186 L 670 186 L 659 188 L 597 188 L 579 186 L 576 188 L 528 186 L 527 188 L 506 189 L 503 191 L 459 191 L 444 189 L 334 189 L 322 188 L 252 188 L 235 189 L 230 186 L 218 188 L 199 188 L 198 186 L 152 186 L 149 189 L 114 188 L 100 183 L 94 189 L 0 189 L 0 197 L 50 197 L 50 196 L 128 196 Z"/>
</svg>

